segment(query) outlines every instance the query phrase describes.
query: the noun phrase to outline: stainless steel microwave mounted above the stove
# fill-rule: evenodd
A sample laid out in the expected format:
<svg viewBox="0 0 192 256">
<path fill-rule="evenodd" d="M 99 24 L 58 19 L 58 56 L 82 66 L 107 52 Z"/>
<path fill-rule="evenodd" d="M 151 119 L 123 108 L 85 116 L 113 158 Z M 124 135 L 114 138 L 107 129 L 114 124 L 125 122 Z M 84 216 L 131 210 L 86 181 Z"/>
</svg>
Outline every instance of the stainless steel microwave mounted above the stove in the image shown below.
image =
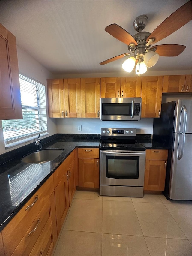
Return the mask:
<svg viewBox="0 0 192 256">
<path fill-rule="evenodd" d="M 101 120 L 140 120 L 141 98 L 101 98 Z"/>
</svg>

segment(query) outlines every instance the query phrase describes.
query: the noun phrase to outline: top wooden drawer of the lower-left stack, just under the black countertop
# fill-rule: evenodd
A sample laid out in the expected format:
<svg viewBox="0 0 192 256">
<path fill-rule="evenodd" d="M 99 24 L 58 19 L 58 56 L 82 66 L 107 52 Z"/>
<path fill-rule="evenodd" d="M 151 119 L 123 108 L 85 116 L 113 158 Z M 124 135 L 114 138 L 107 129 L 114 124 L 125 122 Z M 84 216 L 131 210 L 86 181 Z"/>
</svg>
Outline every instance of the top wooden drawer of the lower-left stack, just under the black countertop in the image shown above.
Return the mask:
<svg viewBox="0 0 192 256">
<path fill-rule="evenodd" d="M 41 186 L 41 188 L 2 230 L 6 256 L 11 255 L 16 249 L 23 236 L 35 221 L 42 206 L 44 206 L 47 201 L 49 201 L 49 180 Z"/>
</svg>

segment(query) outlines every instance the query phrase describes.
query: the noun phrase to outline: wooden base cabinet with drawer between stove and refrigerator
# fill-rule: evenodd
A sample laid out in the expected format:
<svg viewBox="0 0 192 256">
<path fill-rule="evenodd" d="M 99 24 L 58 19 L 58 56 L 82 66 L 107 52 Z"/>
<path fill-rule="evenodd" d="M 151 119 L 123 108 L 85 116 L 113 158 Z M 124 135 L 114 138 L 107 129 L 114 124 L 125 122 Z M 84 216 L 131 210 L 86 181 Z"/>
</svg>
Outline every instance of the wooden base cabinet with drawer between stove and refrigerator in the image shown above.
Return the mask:
<svg viewBox="0 0 192 256">
<path fill-rule="evenodd" d="M 144 190 L 164 191 L 168 150 L 146 150 Z"/>
</svg>

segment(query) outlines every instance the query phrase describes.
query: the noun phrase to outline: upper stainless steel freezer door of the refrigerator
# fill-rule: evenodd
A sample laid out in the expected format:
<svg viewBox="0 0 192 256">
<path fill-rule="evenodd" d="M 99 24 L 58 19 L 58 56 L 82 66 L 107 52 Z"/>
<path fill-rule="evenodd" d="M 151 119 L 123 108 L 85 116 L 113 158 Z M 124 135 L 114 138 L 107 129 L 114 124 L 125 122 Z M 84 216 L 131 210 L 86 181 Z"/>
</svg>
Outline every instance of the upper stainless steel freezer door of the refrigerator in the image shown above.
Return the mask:
<svg viewBox="0 0 192 256">
<path fill-rule="evenodd" d="M 192 133 L 192 100 L 178 100 L 175 115 L 174 131 Z"/>
</svg>

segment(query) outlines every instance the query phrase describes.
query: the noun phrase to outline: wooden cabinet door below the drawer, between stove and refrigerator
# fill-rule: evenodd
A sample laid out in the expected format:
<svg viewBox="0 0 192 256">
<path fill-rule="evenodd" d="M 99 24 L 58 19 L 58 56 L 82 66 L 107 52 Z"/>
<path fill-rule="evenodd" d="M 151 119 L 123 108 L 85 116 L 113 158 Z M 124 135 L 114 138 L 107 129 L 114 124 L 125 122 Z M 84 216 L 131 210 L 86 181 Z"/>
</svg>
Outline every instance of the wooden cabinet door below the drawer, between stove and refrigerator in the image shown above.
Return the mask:
<svg viewBox="0 0 192 256">
<path fill-rule="evenodd" d="M 164 191 L 167 161 L 146 160 L 144 190 Z"/>
</svg>

